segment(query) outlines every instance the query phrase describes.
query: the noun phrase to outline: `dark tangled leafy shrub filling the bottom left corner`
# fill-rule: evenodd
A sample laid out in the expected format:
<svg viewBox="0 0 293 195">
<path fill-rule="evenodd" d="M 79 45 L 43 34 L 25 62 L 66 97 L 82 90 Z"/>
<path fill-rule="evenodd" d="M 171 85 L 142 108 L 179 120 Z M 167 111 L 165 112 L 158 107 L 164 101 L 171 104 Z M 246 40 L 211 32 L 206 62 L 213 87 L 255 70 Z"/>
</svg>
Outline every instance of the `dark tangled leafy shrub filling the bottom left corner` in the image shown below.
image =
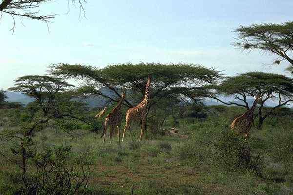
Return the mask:
<svg viewBox="0 0 293 195">
<path fill-rule="evenodd" d="M 37 172 L 26 174 L 25 177 L 18 172 L 5 173 L 7 180 L 1 191 L 14 195 L 84 194 L 89 176 L 89 168 L 84 168 L 88 162 L 80 158 L 77 161 L 78 166 L 68 164 L 70 151 L 70 146 L 62 145 L 37 152 L 33 158 Z"/>
</svg>

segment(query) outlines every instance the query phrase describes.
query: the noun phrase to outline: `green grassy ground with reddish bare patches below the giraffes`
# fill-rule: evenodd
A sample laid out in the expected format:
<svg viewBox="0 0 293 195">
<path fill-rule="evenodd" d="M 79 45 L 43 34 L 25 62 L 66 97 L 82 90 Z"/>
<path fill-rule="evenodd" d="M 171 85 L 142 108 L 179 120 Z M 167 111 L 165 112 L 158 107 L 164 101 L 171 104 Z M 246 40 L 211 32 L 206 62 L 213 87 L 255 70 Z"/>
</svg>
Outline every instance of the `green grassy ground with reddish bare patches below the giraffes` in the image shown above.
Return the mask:
<svg viewBox="0 0 293 195">
<path fill-rule="evenodd" d="M 236 108 L 225 109 L 233 114 L 241 112 Z M 121 146 L 116 136 L 112 145 L 108 137 L 102 145 L 100 135 L 89 130 L 76 130 L 74 136 L 69 136 L 52 128 L 37 132 L 35 139 L 38 150 L 66 144 L 72 146 L 72 162 L 77 156 L 91 159 L 88 194 L 125 195 L 132 188 L 135 195 L 293 194 L 291 119 L 268 121 L 262 130 L 252 130 L 249 145 L 252 157 L 262 159 L 258 162 L 262 165 L 260 176 L 250 168 L 231 171 L 223 166 L 225 162 L 217 156 L 217 152 L 223 151 L 217 147 L 222 146 L 219 143 L 225 138 L 223 132 L 233 117 L 227 110 L 217 114 L 203 121 L 182 119 L 178 129 L 181 135 L 188 135 L 187 139 L 158 135 L 139 143 L 139 131 L 133 130 L 126 133 Z M 2 145 L 0 151 L 10 155 L 9 146 Z M 229 155 L 225 154 L 227 159 L 235 157 Z M 0 175 L 12 170 L 17 169 L 6 160 L 0 161 Z M 5 181 L 0 177 L 0 194 L 4 194 L 4 186 Z"/>
</svg>

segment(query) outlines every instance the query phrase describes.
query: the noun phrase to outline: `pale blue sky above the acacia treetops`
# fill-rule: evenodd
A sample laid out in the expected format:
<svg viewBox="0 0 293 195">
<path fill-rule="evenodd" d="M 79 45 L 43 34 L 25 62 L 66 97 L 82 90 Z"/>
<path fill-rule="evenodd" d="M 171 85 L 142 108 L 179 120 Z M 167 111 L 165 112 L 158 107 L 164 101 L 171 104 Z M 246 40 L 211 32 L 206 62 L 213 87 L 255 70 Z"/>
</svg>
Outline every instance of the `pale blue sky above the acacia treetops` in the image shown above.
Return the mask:
<svg viewBox="0 0 293 195">
<path fill-rule="evenodd" d="M 0 23 L 0 88 L 28 74 L 47 74 L 51 63 L 104 67 L 126 62 L 186 62 L 214 67 L 227 75 L 246 71 L 284 73 L 268 67 L 275 56 L 235 49 L 239 25 L 293 19 L 292 0 L 88 0 L 86 17 L 65 0 L 46 3 L 41 13 L 57 13 L 53 23 L 17 20 Z"/>
</svg>

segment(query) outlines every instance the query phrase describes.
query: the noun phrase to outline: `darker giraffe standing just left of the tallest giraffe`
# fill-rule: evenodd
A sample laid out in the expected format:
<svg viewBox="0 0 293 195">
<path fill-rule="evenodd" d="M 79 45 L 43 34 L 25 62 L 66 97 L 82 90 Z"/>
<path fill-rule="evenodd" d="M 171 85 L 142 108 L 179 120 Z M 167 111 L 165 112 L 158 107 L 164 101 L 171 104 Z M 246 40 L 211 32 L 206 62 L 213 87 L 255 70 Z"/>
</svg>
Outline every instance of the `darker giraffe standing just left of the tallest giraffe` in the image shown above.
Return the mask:
<svg viewBox="0 0 293 195">
<path fill-rule="evenodd" d="M 112 136 L 113 136 L 113 130 L 117 128 L 117 136 L 118 136 L 118 143 L 120 145 L 120 134 L 119 134 L 119 127 L 121 125 L 121 107 L 122 107 L 122 102 L 125 99 L 125 93 L 123 92 L 121 94 L 121 99 L 116 105 L 116 107 L 107 115 L 104 121 L 104 126 L 103 126 L 103 134 L 101 135 L 101 138 L 103 137 L 103 144 L 105 142 L 105 135 L 106 131 L 108 129 L 108 126 L 110 126 L 110 144 L 112 143 Z M 101 117 L 105 113 L 106 107 L 99 112 L 95 117 Z"/>
</svg>

